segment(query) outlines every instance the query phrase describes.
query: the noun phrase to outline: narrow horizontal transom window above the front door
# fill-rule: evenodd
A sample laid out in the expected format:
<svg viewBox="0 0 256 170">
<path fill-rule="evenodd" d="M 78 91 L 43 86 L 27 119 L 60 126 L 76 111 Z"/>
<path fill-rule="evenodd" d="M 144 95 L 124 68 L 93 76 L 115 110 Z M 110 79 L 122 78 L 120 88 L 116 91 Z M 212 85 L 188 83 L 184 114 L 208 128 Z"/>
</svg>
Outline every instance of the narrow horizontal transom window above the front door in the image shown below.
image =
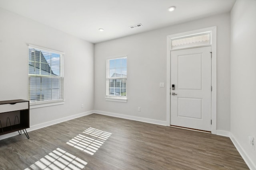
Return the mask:
<svg viewBox="0 0 256 170">
<path fill-rule="evenodd" d="M 196 47 L 202 45 L 210 45 L 210 33 L 173 39 L 172 49 L 182 49 L 188 47 Z"/>
</svg>

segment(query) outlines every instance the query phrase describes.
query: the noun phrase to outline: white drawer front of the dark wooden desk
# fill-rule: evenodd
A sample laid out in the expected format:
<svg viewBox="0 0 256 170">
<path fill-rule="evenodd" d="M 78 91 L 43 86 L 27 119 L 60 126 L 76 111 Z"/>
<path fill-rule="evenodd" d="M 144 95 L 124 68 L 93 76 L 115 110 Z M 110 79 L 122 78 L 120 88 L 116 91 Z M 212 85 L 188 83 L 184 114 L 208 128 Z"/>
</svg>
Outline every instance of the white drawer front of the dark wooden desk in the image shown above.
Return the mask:
<svg viewBox="0 0 256 170">
<path fill-rule="evenodd" d="M 16 104 L 0 104 L 0 113 L 24 109 L 28 109 L 28 102 L 19 102 Z"/>
</svg>

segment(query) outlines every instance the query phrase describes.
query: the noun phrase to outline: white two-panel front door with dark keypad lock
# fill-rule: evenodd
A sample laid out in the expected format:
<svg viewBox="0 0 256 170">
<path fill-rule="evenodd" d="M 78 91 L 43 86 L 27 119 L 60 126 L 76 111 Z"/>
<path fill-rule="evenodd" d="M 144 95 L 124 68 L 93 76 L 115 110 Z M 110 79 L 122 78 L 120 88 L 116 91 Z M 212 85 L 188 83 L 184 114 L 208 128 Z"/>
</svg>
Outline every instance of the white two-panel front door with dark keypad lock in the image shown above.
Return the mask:
<svg viewBox="0 0 256 170">
<path fill-rule="evenodd" d="M 171 125 L 211 131 L 210 52 L 211 47 L 171 51 Z"/>
</svg>

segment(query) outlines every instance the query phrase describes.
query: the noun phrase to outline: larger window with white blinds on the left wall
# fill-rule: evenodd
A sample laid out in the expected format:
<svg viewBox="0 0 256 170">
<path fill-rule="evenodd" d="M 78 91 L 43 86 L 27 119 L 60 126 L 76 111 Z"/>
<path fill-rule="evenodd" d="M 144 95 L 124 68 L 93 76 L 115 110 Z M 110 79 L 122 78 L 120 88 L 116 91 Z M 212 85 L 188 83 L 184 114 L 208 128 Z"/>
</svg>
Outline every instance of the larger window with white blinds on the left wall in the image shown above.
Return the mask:
<svg viewBox="0 0 256 170">
<path fill-rule="evenodd" d="M 64 101 L 64 53 L 29 45 L 30 104 Z"/>
</svg>

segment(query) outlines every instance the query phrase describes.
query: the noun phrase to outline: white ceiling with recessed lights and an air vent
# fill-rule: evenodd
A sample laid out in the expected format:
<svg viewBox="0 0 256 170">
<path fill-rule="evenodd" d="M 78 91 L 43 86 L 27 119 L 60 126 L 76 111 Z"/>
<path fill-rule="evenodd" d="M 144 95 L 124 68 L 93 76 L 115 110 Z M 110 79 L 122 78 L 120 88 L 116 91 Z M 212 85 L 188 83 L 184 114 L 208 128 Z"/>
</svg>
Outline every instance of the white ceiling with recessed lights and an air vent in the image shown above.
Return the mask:
<svg viewBox="0 0 256 170">
<path fill-rule="evenodd" d="M 92 43 L 230 12 L 235 0 L 0 0 L 0 7 Z M 174 12 L 168 7 L 176 6 Z M 129 26 L 141 23 L 142 27 Z M 105 31 L 98 31 L 103 28 Z"/>
</svg>

